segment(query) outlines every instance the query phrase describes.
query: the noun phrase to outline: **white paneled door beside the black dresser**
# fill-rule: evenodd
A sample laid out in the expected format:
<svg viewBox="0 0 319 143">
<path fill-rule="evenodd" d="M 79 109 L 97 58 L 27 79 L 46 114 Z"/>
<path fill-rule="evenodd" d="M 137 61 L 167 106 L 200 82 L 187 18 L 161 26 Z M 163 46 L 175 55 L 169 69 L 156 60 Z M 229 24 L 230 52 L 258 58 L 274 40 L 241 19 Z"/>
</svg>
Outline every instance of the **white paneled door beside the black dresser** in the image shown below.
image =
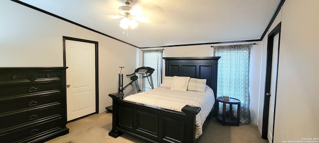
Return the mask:
<svg viewBox="0 0 319 143">
<path fill-rule="evenodd" d="M 96 112 L 95 44 L 65 40 L 67 121 Z"/>
</svg>

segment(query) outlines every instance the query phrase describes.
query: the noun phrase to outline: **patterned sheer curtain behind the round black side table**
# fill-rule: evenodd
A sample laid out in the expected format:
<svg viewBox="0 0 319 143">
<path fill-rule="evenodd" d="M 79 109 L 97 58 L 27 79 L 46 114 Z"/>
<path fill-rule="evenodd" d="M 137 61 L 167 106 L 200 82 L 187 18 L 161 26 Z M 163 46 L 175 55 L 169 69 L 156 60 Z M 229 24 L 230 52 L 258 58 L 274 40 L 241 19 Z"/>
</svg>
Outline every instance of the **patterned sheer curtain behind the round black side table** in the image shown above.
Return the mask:
<svg viewBox="0 0 319 143">
<path fill-rule="evenodd" d="M 249 63 L 251 44 L 214 46 L 214 56 L 218 61 L 217 95 L 228 95 L 239 99 L 240 122 L 250 124 L 249 97 Z M 222 104 L 219 113 L 221 114 Z M 226 108 L 229 107 L 226 106 Z M 237 117 L 237 106 L 233 106 L 234 117 Z"/>
</svg>

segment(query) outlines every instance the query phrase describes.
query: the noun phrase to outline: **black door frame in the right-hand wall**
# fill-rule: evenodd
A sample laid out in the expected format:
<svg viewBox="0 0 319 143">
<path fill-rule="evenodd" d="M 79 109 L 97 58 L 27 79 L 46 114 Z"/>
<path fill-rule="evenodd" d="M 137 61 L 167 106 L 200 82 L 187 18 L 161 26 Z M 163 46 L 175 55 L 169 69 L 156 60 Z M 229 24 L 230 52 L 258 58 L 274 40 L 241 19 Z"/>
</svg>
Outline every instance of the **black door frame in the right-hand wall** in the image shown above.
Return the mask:
<svg viewBox="0 0 319 143">
<path fill-rule="evenodd" d="M 266 82 L 265 82 L 265 93 L 264 93 L 264 112 L 263 112 L 263 126 L 262 126 L 262 138 L 268 139 L 268 118 L 269 118 L 269 101 L 270 96 L 266 93 L 270 92 L 270 83 L 271 83 L 271 70 L 272 70 L 272 61 L 273 61 L 273 45 L 274 37 L 279 34 L 278 41 L 278 62 L 279 62 L 279 49 L 280 49 L 280 31 L 281 31 L 281 22 L 268 34 L 268 43 L 267 43 L 267 64 L 266 64 Z M 277 77 L 278 78 L 278 63 L 277 63 Z M 277 81 L 275 83 L 276 92 L 272 94 L 277 94 Z M 275 97 L 275 107 L 274 107 L 274 125 L 273 125 L 273 141 L 274 142 L 274 129 L 275 129 L 275 116 L 276 116 L 276 98 Z"/>
</svg>

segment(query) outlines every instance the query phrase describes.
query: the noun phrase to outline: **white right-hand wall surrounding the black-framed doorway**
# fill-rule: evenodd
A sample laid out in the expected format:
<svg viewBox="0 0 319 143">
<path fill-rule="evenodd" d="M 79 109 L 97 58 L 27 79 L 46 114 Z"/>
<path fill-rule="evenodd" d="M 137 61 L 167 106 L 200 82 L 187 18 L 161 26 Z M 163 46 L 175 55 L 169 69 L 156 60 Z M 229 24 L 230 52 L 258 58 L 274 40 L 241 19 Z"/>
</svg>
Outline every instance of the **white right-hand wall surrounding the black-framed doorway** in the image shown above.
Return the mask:
<svg viewBox="0 0 319 143">
<path fill-rule="evenodd" d="M 274 143 L 319 138 L 318 13 L 318 0 L 286 0 L 268 31 L 282 22 Z M 265 86 L 267 37 L 262 42 L 260 111 L 264 102 L 262 88 Z M 258 127 L 261 132 L 262 125 Z M 311 140 L 319 142 L 317 139 Z"/>
</svg>

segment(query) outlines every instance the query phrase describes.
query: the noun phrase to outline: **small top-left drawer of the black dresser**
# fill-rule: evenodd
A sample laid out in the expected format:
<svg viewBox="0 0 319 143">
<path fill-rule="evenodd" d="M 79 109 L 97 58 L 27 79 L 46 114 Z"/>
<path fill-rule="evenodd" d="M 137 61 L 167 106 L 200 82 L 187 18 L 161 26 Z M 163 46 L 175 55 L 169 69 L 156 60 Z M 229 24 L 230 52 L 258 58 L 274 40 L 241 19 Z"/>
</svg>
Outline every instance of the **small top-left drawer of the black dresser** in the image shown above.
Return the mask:
<svg viewBox="0 0 319 143">
<path fill-rule="evenodd" d="M 2 72 L 0 71 L 0 85 L 1 84 L 14 84 L 14 83 L 25 83 L 31 82 L 31 72 L 23 71 L 11 71 Z"/>
</svg>

